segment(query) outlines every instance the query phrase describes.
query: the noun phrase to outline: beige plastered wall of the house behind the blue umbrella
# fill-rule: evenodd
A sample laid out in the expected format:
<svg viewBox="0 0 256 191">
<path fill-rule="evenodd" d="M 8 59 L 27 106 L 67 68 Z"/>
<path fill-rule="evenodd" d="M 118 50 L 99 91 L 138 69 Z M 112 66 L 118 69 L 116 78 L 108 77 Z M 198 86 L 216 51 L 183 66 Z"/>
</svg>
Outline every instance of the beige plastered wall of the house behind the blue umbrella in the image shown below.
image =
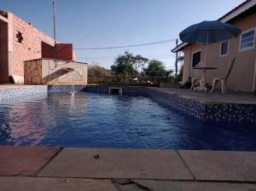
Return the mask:
<svg viewBox="0 0 256 191">
<path fill-rule="evenodd" d="M 241 20 L 235 20 L 231 23 L 234 26 L 247 31 L 256 27 L 256 13 L 250 14 Z M 255 37 L 256 38 L 256 37 Z M 255 40 L 254 38 L 254 40 Z M 217 67 L 218 70 L 211 70 L 207 72 L 207 83 L 212 82 L 214 77 L 222 77 L 227 71 L 227 67 L 234 56 L 236 56 L 235 66 L 230 74 L 227 83 L 227 90 L 235 91 L 253 91 L 253 81 L 255 73 L 255 56 L 256 51 L 249 49 L 246 51 L 239 51 L 240 38 L 229 40 L 229 54 L 220 56 L 220 43 L 214 43 L 208 46 L 207 49 L 207 66 Z M 189 76 L 195 76 L 195 71 L 191 69 L 191 54 L 196 50 L 201 49 L 201 61 L 204 62 L 205 46 L 191 44 L 184 49 L 184 69 L 183 69 L 183 83 L 186 82 Z"/>
</svg>

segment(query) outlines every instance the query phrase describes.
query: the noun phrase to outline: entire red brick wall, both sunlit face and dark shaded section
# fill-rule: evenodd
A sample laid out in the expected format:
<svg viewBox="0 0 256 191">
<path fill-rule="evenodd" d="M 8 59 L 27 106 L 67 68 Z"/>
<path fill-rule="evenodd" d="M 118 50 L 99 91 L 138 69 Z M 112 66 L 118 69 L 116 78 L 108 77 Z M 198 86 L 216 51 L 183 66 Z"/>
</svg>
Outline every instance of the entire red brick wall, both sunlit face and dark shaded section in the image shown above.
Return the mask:
<svg viewBox="0 0 256 191">
<path fill-rule="evenodd" d="M 49 38 L 49 36 L 40 32 L 26 21 L 21 20 L 15 14 L 9 13 L 9 20 L 13 26 L 12 75 L 21 79 L 16 81 L 23 80 L 24 61 L 38 58 L 74 61 L 72 43 L 55 44 L 54 39 Z M 54 44 L 55 47 L 53 47 Z"/>
</svg>

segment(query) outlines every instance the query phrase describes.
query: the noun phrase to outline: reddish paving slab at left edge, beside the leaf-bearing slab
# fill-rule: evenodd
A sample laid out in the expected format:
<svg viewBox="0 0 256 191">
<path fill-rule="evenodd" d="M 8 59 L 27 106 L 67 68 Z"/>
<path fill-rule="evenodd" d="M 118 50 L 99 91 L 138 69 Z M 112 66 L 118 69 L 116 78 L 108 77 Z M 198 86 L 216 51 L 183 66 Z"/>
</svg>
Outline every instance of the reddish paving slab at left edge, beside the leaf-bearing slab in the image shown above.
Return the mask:
<svg viewBox="0 0 256 191">
<path fill-rule="evenodd" d="M 60 149 L 0 147 L 0 176 L 35 175 Z"/>
</svg>

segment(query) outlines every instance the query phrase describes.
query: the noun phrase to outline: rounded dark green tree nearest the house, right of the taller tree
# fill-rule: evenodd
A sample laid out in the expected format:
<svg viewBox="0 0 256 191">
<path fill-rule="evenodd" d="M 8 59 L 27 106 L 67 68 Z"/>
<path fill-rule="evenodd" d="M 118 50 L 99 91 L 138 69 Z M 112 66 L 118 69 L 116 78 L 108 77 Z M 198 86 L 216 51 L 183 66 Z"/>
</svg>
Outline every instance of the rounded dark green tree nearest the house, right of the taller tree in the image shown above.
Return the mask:
<svg viewBox="0 0 256 191">
<path fill-rule="evenodd" d="M 162 61 L 151 60 L 148 62 L 148 67 L 143 68 L 143 72 L 148 77 L 167 77 L 172 71 L 166 71 L 166 67 Z"/>
</svg>

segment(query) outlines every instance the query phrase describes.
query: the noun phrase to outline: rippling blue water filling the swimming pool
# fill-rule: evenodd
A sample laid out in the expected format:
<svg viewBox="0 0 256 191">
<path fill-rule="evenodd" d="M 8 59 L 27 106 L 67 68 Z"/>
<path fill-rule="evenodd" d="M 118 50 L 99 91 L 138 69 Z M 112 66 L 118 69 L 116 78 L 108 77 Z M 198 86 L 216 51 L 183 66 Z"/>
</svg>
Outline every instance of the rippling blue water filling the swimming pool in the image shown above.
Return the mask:
<svg viewBox="0 0 256 191">
<path fill-rule="evenodd" d="M 256 128 L 205 123 L 148 97 L 61 93 L 1 102 L 0 145 L 256 151 Z"/>
</svg>

